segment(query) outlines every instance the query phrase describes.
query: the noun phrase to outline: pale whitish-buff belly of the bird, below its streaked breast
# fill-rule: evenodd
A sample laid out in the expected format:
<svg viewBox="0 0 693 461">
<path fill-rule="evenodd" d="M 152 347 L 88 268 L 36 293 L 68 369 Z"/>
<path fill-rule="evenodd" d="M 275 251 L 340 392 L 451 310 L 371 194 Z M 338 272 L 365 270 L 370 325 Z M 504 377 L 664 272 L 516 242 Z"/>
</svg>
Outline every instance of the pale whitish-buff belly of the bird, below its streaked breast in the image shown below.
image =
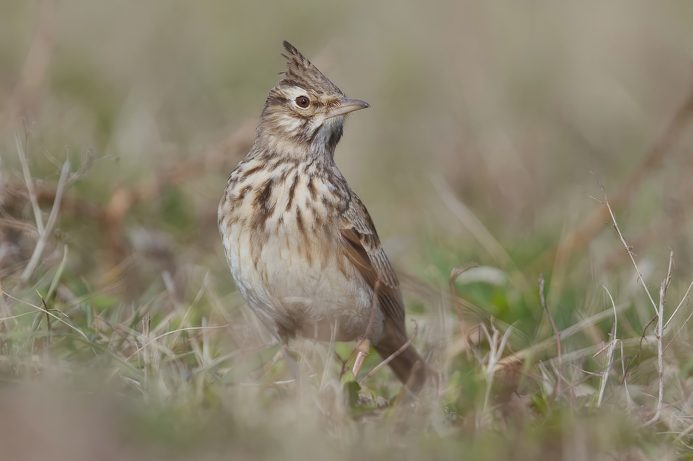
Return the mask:
<svg viewBox="0 0 693 461">
<path fill-rule="evenodd" d="M 322 235 L 262 232 L 231 225 L 224 246 L 236 285 L 275 338 L 351 341 L 380 336 L 372 291 Z M 342 260 L 340 260 L 342 258 Z"/>
</svg>

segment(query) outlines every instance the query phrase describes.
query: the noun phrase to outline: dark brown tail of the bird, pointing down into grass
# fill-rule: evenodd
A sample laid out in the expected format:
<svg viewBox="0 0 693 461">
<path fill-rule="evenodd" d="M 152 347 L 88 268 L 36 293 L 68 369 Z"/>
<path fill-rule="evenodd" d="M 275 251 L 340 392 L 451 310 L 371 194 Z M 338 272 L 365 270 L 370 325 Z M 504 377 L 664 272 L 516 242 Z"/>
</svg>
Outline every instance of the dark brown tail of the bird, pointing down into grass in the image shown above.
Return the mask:
<svg viewBox="0 0 693 461">
<path fill-rule="evenodd" d="M 392 356 L 387 365 L 409 390 L 418 393 L 433 373 L 413 345 L 410 344 L 404 350 L 400 350 L 404 344 L 403 341 L 379 341 L 375 349 L 383 360 Z"/>
</svg>

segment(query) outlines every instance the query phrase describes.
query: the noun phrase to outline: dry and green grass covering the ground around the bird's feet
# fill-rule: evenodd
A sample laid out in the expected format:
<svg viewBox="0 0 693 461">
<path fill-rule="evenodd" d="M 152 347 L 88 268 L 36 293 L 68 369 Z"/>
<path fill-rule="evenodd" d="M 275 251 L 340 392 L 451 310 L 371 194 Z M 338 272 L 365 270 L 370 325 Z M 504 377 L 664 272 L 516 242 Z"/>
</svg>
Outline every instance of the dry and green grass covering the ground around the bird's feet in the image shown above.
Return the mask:
<svg viewBox="0 0 693 461">
<path fill-rule="evenodd" d="M 16 141 L 26 165 L 26 141 Z M 44 420 L 42 408 L 53 407 L 49 413 L 73 415 L 76 430 L 85 431 L 78 440 L 90 437 L 94 419 L 104 415 L 85 408 L 73 414 L 69 403 L 88 395 L 109 402 L 105 418 L 123 424 L 98 435 L 127 440 L 139 453 L 132 456 L 146 459 L 211 459 L 220 452 L 249 458 L 290 452 L 297 458 L 468 453 L 491 459 L 656 459 L 688 449 L 690 286 L 684 290 L 676 281 L 678 289 L 667 294 L 680 278 L 670 261 L 657 298 L 615 222 L 613 245 L 625 246 L 632 265 L 613 269 L 608 286 L 590 284 L 584 309 L 573 309 L 567 319 L 563 314 L 559 332 L 551 316 L 556 309 L 545 301 L 545 280 L 540 275 L 532 282 L 532 264 L 519 269 L 470 210 L 459 215 L 478 227 L 473 233 L 510 269 L 465 264 L 452 270 L 449 282 L 441 269 L 438 285 L 449 284 L 449 290 L 407 274 L 405 293 L 425 306 L 413 316 L 421 332 L 414 342 L 441 373 L 439 388 L 416 398 L 385 368 L 367 376 L 380 361 L 375 354 L 367 356 L 360 380 L 349 371 L 340 378 L 335 358 L 348 357 L 349 344 L 292 342 L 302 377 L 297 382 L 231 287 L 224 264 L 206 266 L 209 255 L 199 248 L 182 262 L 190 257 L 182 250 L 185 239 L 132 230 L 132 255 L 100 278 L 83 271 L 73 261 L 87 255 L 73 253 L 86 246 L 91 229 L 82 226 L 78 206 L 70 202 L 80 199 L 80 181 L 91 180 L 91 162 L 85 154 L 80 167 L 57 165 L 57 183 L 43 182 L 35 192 L 28 187 L 35 184 L 28 168 L 24 181 L 5 186 L 12 201 L 4 204 L 3 219 L 17 232 L 8 243 L 32 256 L 3 273 L 3 393 L 31 405 L 42 401 L 34 413 L 30 406 L 10 410 L 15 418 L 26 412 L 51 431 L 58 421 Z M 117 193 L 97 216 L 108 219 Z M 166 188 L 159 194 L 157 219 L 173 222 L 171 215 L 186 206 L 185 195 L 166 197 Z M 46 196 L 53 197 L 52 206 Z M 462 206 L 451 195 L 444 199 L 450 208 Z M 615 218 L 608 204 L 602 201 Z M 33 211 L 12 216 L 11 210 Z M 48 210 L 49 218 L 42 219 Z M 620 285 L 615 273 L 630 275 Z M 547 286 L 550 292 L 551 279 Z M 123 455 L 131 456 L 127 450 Z"/>
</svg>

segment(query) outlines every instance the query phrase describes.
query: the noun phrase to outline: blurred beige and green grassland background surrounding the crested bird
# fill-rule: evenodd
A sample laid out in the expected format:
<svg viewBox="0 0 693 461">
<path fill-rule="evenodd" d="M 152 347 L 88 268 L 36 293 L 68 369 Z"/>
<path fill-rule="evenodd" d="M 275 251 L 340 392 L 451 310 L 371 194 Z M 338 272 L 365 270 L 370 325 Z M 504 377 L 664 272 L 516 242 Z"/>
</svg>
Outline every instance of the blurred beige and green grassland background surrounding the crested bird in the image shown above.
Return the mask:
<svg viewBox="0 0 693 461">
<path fill-rule="evenodd" d="M 534 433 L 529 440 L 542 447 L 541 456 L 583 459 L 604 446 L 640 459 L 672 455 L 671 442 L 661 444 L 651 433 L 654 438 L 645 437 L 650 451 L 621 432 L 594 442 L 595 427 L 628 432 L 608 424 L 611 413 L 599 416 L 603 426 L 572 417 L 565 423 L 570 429 L 556 422 L 565 407 L 555 404 L 556 389 L 547 385 L 555 382 L 556 364 L 538 365 L 555 361 L 556 347 L 536 280 L 543 273 L 547 305 L 561 331 L 612 309 L 613 296 L 620 309 L 617 336 L 635 341 L 626 343 L 635 349 L 621 352 L 615 365 L 613 392 L 620 392 L 626 372 L 635 373 L 628 376 L 642 386 L 642 400 L 633 397 L 637 404 L 629 400 L 625 408 L 652 410 L 656 399 L 647 396 L 657 392 L 656 349 L 644 352 L 635 372 L 621 363 L 635 356 L 653 309 L 606 207 L 590 195 L 604 201 L 601 181 L 655 300 L 669 248 L 674 251 L 670 314 L 693 275 L 692 18 L 693 3 L 684 0 L 3 1 L 0 283 L 7 295 L 0 300 L 6 383 L 0 400 L 12 415 L 3 419 L 23 423 L 0 426 L 0 440 L 14 442 L 15 459 L 37 459 L 71 437 L 98 434 L 107 442 L 94 442 L 94 450 L 112 446 L 103 459 L 158 459 L 164 453 L 159 444 L 200 450 L 195 434 L 214 426 L 204 439 L 209 459 L 231 453 L 229 440 L 254 459 L 302 446 L 314 440 L 313 429 L 324 429 L 311 420 L 313 426 L 286 438 L 263 432 L 263 411 L 279 421 L 277 431 L 286 431 L 298 405 L 307 415 L 326 417 L 328 432 L 342 440 L 321 441 L 316 456 L 335 446 L 365 457 L 456 453 L 429 439 L 414 449 L 406 438 L 398 442 L 405 451 L 388 451 L 379 442 L 390 429 L 398 433 L 389 426 L 378 426 L 376 434 L 388 434 L 378 442 L 363 442 L 354 428 L 362 413 L 376 424 L 401 409 L 379 413 L 375 400 L 372 408 L 364 400 L 369 411 L 357 418 L 349 405 L 324 409 L 324 381 L 322 397 L 277 384 L 290 381 L 286 370 L 272 361 L 272 350 L 262 352 L 267 338 L 234 288 L 216 226 L 218 199 L 280 79 L 286 39 L 349 97 L 371 105 L 349 119 L 335 161 L 367 205 L 403 283 L 407 309 L 421 329 L 416 342 L 447 384 L 426 407 L 430 413 L 411 424 L 433 427 L 435 437 L 451 437 L 478 456 L 499 456 L 507 447 L 466 437 L 470 428 L 484 427 L 484 415 L 495 421 L 518 406 L 527 424 L 546 428 L 553 421 L 558 432 L 547 434 L 563 440 L 555 446 Z M 60 179 L 66 159 L 69 172 Z M 60 207 L 51 222 L 56 196 Z M 33 256 L 37 245 L 42 251 Z M 471 261 L 479 267 L 451 278 Z M 42 312 L 26 305 L 40 307 L 41 296 L 46 309 L 67 317 L 55 314 L 46 325 Z M 689 314 L 687 302 L 683 306 L 669 338 Z M 597 320 L 563 343 L 564 354 L 596 347 L 564 369 L 574 384 L 571 405 L 597 398 L 599 381 L 580 371 L 602 372 L 604 357 L 592 354 L 614 338 L 613 315 Z M 502 386 L 493 386 L 491 403 L 492 341 L 478 325 L 510 331 L 502 355 L 548 339 L 523 355 L 526 361 L 513 362 Z M 194 329 L 168 334 L 177 328 Z M 689 333 L 684 328 L 667 351 L 667 376 L 675 381 L 667 384 L 669 403 L 690 395 Z M 150 334 L 168 336 L 147 352 Z M 305 356 L 301 347 L 297 354 Z M 372 355 L 371 368 L 378 363 Z M 333 392 L 349 394 L 338 369 Z M 534 382 L 532 375 L 544 380 Z M 17 397 L 12 383 L 26 382 L 35 390 L 22 392 L 43 395 L 45 405 Z M 44 386 L 56 382 L 66 388 L 58 394 L 69 397 L 46 397 Z M 247 397 L 242 382 L 262 384 L 247 386 L 253 389 Z M 91 422 L 94 415 L 77 404 L 76 431 L 59 441 L 36 435 L 42 443 L 28 455 L 19 434 L 43 433 L 75 408 L 72 386 L 89 398 L 103 394 L 96 419 L 109 422 Z M 392 401 L 398 388 L 382 370 L 361 392 Z M 317 399 L 315 408 L 306 410 L 301 399 L 297 404 L 297 395 Z M 134 408 L 146 401 L 148 409 L 123 415 L 121 398 Z M 21 399 L 32 403 L 17 404 Z M 542 399 L 550 404 L 537 403 Z M 515 402 L 511 410 L 502 406 L 509 401 Z M 246 407 L 238 410 L 238 402 Z M 500 413 L 488 411 L 495 404 Z M 45 419 L 42 408 L 49 408 Z M 690 408 L 676 411 L 670 416 L 682 425 L 661 431 L 681 433 L 690 424 Z M 390 424 L 399 424 L 398 417 Z M 633 421 L 637 426 L 638 418 Z M 517 440 L 527 440 L 516 431 Z M 352 438 L 341 439 L 345 433 Z M 268 448 L 263 437 L 274 444 Z M 137 448 L 123 448 L 130 444 L 124 440 Z M 585 453 L 570 448 L 585 440 L 594 442 Z M 85 451 L 64 459 L 95 459 L 91 445 L 80 446 Z"/>
</svg>

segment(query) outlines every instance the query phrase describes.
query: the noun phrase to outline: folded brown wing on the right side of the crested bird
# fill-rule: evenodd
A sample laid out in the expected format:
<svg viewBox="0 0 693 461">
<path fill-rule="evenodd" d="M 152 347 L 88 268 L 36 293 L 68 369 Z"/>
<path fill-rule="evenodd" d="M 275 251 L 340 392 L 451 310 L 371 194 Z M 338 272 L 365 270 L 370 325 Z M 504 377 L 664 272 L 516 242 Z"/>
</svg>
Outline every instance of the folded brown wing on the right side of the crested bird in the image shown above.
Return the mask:
<svg viewBox="0 0 693 461">
<path fill-rule="evenodd" d="M 404 302 L 402 301 L 402 293 L 399 291 L 399 282 L 387 260 L 383 247 L 380 246 L 376 227 L 366 207 L 356 195 L 352 197 L 344 217 L 346 222 L 342 228 L 342 237 L 345 255 L 351 264 L 358 269 L 371 289 L 375 289 L 376 281 L 380 280 L 380 286 L 377 290 L 378 305 L 380 305 L 387 320 L 392 322 L 396 334 L 405 338 Z"/>
</svg>

